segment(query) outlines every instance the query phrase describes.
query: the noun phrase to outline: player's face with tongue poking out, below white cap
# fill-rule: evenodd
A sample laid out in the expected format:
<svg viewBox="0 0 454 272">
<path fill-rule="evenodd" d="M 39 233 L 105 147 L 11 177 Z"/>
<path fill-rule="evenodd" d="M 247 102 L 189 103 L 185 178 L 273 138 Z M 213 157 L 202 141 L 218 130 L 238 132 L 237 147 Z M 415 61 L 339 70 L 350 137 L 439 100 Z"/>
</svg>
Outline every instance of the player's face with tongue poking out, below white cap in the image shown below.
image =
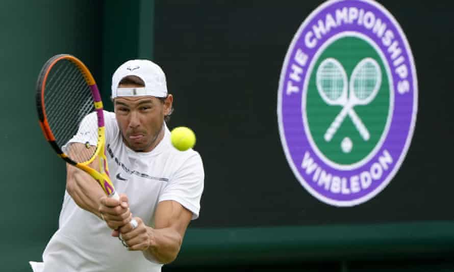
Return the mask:
<svg viewBox="0 0 454 272">
<path fill-rule="evenodd" d="M 120 88 L 138 86 L 120 85 Z M 116 97 L 115 116 L 123 136 L 123 142 L 132 150 L 149 152 L 164 136 L 164 116 L 169 113 L 172 97 L 162 103 L 153 96 Z"/>
</svg>

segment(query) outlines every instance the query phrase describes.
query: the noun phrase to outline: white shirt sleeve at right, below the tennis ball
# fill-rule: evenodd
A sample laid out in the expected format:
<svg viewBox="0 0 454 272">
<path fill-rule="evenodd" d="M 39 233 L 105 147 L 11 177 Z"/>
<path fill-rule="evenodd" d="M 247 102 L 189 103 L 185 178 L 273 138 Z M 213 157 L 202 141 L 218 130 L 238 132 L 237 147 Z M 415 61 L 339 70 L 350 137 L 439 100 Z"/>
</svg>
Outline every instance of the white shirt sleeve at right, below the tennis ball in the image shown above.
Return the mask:
<svg viewBox="0 0 454 272">
<path fill-rule="evenodd" d="M 204 167 L 200 155 L 194 151 L 170 179 L 159 197 L 159 202 L 174 200 L 192 212 L 192 220 L 200 211 L 200 198 L 204 190 Z"/>
</svg>

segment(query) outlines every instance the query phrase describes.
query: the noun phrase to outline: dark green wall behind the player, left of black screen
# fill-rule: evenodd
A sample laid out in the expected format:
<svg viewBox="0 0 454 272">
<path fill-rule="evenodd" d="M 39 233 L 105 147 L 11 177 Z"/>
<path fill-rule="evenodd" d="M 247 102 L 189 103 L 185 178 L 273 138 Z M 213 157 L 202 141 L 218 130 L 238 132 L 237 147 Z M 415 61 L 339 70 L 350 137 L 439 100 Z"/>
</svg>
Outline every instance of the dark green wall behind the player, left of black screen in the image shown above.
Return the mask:
<svg viewBox="0 0 454 272">
<path fill-rule="evenodd" d="M 153 52 L 153 1 L 4 0 L 0 9 L 3 205 L 0 271 L 31 271 L 58 228 L 65 164 L 38 125 L 35 85 L 44 62 L 70 53 L 91 70 L 111 108 L 120 62 Z M 137 11 L 142 10 L 139 14 Z M 138 25 L 141 25 L 138 28 Z M 139 37 L 141 37 L 139 39 Z"/>
</svg>

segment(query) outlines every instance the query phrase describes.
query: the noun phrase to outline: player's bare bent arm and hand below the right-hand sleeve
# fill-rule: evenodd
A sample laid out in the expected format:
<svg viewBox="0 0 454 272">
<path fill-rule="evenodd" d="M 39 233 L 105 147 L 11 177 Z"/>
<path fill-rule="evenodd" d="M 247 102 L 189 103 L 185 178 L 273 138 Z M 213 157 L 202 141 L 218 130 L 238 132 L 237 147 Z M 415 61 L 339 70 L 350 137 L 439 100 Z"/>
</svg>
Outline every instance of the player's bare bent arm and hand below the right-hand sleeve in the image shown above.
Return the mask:
<svg viewBox="0 0 454 272">
<path fill-rule="evenodd" d="M 192 212 L 173 200 L 162 201 L 155 212 L 155 228 L 146 226 L 139 217 L 139 223 L 132 229 L 127 224 L 119 229 L 130 250 L 143 251 L 159 263 L 170 263 L 180 252 L 183 237 L 191 222 Z"/>
</svg>

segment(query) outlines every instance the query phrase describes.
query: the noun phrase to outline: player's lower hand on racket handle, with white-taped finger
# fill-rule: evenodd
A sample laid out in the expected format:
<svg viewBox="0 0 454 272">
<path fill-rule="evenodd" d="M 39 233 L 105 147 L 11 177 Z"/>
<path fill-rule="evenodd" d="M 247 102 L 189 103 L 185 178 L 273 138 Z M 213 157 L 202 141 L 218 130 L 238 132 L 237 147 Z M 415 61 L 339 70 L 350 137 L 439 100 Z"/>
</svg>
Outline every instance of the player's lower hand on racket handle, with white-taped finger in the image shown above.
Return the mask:
<svg viewBox="0 0 454 272">
<path fill-rule="evenodd" d="M 152 244 L 153 229 L 145 226 L 140 217 L 134 217 L 134 219 L 137 221 L 136 228 L 133 228 L 131 224 L 126 224 L 120 227 L 118 231 L 129 250 L 146 250 Z"/>
</svg>

